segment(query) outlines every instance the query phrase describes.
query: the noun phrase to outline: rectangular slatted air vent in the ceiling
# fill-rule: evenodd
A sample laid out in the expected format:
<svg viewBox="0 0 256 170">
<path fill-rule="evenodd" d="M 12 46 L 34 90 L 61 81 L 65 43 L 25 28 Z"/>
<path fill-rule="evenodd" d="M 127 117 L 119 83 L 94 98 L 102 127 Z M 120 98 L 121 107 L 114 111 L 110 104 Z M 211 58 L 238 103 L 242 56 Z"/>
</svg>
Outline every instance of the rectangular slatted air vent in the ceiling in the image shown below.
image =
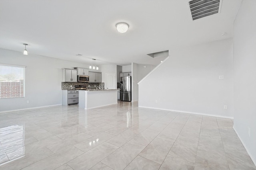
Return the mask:
<svg viewBox="0 0 256 170">
<path fill-rule="evenodd" d="M 222 0 L 191 0 L 188 1 L 192 20 L 220 13 Z"/>
</svg>

